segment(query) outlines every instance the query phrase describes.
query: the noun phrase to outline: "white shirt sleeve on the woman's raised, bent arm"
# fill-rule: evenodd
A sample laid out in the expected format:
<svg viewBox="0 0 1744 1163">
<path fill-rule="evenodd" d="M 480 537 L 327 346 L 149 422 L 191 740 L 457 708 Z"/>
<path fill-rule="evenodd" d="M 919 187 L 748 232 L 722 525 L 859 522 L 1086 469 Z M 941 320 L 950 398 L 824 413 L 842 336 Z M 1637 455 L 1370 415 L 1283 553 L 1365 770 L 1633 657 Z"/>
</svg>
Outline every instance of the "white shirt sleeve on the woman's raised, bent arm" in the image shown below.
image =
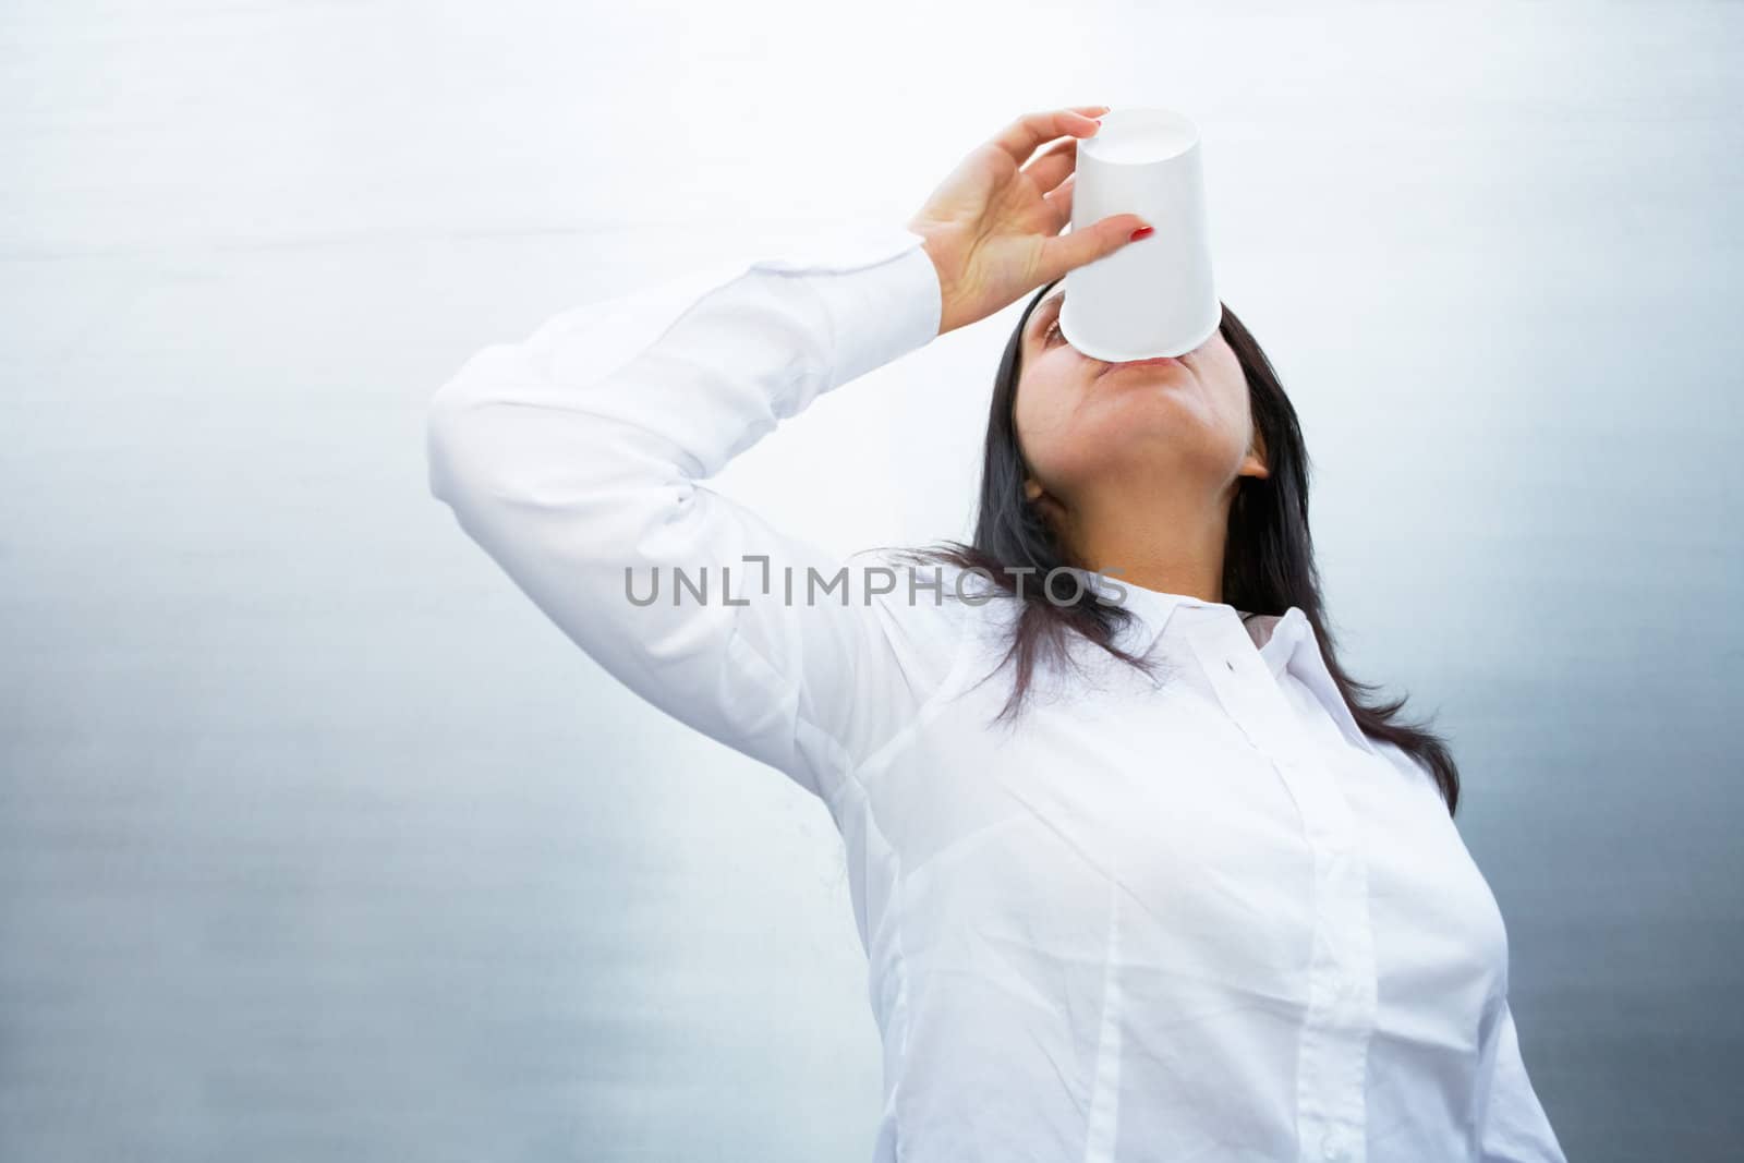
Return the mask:
<svg viewBox="0 0 1744 1163">
<path fill-rule="evenodd" d="M 926 345 L 940 310 L 921 239 L 891 228 L 577 307 L 441 385 L 431 492 L 610 675 L 834 807 L 924 701 L 930 631 L 905 610 L 931 596 L 872 602 L 888 581 L 855 568 L 832 588 L 842 560 L 703 481 Z"/>
</svg>

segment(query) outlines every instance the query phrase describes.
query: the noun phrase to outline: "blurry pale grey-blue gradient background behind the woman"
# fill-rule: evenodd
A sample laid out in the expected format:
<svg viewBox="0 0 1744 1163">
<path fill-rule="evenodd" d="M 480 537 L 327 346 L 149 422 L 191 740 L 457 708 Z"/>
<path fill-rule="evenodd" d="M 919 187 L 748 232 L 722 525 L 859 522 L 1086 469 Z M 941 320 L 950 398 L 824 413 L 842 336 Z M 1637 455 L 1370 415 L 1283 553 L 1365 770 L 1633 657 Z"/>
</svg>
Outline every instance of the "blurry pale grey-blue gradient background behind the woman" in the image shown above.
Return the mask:
<svg viewBox="0 0 1744 1163">
<path fill-rule="evenodd" d="M 0 10 L 0 1158 L 869 1158 L 827 813 L 509 586 L 424 406 L 1090 101 L 1202 122 L 1343 649 L 1456 746 L 1570 1158 L 1735 1158 L 1744 10 L 635 9 Z M 1017 310 L 720 486 L 966 534 Z"/>
</svg>

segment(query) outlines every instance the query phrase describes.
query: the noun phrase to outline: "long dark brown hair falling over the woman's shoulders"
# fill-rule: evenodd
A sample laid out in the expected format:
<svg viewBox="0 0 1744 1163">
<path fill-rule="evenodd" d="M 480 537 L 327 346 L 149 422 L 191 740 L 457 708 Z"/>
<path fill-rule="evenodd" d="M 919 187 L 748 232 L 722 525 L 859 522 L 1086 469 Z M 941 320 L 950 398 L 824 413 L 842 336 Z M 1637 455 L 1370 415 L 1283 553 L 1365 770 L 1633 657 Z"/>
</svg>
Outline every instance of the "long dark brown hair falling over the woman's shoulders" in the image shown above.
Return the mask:
<svg viewBox="0 0 1744 1163">
<path fill-rule="evenodd" d="M 980 507 L 971 544 L 933 542 L 921 549 L 903 549 L 916 561 L 950 563 L 980 570 L 1006 593 L 1020 593 L 1024 607 L 1017 617 L 1012 645 L 994 673 L 1015 659 L 1017 682 L 999 718 L 1015 717 L 1031 687 L 1036 661 L 1043 656 L 1066 659 L 1073 635 L 1083 635 L 1123 663 L 1151 671 L 1153 659 L 1121 650 L 1116 635 L 1134 617 L 1132 610 L 1099 598 L 1085 588 L 1076 602 L 1066 602 L 1060 588 L 1041 593 L 1039 582 L 1060 567 L 1078 567 L 1060 546 L 1053 528 L 1024 495 L 1025 467 L 1017 441 L 1013 403 L 1022 375 L 1022 338 L 1031 312 L 1055 284 L 1036 291 L 1024 309 L 999 361 L 992 406 L 987 417 L 987 441 L 982 462 Z M 1406 697 L 1369 704 L 1366 696 L 1378 687 L 1345 673 L 1338 661 L 1334 636 L 1325 624 L 1320 577 L 1308 532 L 1308 450 L 1303 445 L 1296 408 L 1278 382 L 1271 361 L 1235 312 L 1223 307 L 1219 333 L 1235 350 L 1247 377 L 1247 398 L 1254 425 L 1264 438 L 1268 478 L 1242 476 L 1230 506 L 1230 528 L 1223 563 L 1223 600 L 1238 610 L 1284 614 L 1299 607 L 1320 642 L 1325 668 L 1338 684 L 1357 725 L 1371 739 L 1383 739 L 1434 776 L 1451 816 L 1460 802 L 1460 772 L 1448 745 L 1428 724 L 1395 722 Z M 1031 572 L 1032 570 L 1032 572 Z M 1027 579 L 1027 584 L 1024 581 Z M 1114 581 L 1120 581 L 1114 575 Z M 1018 586 L 1022 589 L 1018 591 Z"/>
</svg>

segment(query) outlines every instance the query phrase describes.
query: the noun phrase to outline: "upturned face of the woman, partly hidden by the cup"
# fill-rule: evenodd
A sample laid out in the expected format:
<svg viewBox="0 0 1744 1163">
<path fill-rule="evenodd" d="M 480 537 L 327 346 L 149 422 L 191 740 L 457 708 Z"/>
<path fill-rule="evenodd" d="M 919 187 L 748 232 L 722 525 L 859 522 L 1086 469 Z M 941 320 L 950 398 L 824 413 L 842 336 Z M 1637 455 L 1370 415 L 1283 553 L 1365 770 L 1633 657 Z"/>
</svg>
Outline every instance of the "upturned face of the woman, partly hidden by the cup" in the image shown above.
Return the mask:
<svg viewBox="0 0 1744 1163">
<path fill-rule="evenodd" d="M 1031 500 L 1071 511 L 1099 486 L 1219 499 L 1238 476 L 1266 476 L 1247 377 L 1221 331 L 1179 359 L 1109 364 L 1060 335 L 1064 296 L 1050 293 L 1022 337 L 1015 422 Z"/>
</svg>

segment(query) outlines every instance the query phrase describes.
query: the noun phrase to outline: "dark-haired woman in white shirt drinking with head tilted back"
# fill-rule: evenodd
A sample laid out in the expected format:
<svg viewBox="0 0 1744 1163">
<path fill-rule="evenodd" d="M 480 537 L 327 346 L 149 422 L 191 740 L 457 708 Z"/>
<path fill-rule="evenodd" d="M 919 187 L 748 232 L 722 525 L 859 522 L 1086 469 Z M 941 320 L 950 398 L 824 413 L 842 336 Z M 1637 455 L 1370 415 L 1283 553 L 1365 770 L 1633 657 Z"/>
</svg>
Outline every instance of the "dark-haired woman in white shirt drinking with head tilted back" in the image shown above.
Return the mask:
<svg viewBox="0 0 1744 1163">
<path fill-rule="evenodd" d="M 1053 324 L 1053 282 L 1148 225 L 1066 230 L 1104 112 L 1012 122 L 870 244 L 480 352 L 431 488 L 607 671 L 828 807 L 881 1163 L 1563 1160 L 1454 765 L 1336 663 L 1259 347 L 1226 310 L 1107 366 Z M 971 546 L 842 563 L 701 483 L 1036 288 Z"/>
</svg>

